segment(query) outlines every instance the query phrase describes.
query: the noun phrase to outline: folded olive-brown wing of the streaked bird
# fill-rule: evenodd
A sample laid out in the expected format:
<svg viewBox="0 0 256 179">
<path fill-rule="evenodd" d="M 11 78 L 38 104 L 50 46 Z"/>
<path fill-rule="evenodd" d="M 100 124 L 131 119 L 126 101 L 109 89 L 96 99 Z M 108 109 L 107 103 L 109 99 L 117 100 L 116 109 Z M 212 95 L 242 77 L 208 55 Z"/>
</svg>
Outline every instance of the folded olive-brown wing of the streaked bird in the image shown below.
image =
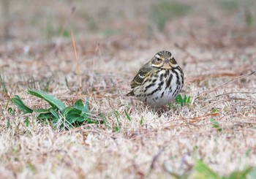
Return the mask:
<svg viewBox="0 0 256 179">
<path fill-rule="evenodd" d="M 154 68 L 151 66 L 143 66 L 137 75 L 133 78 L 131 87 L 135 88 L 136 86 L 142 85 L 145 77 L 153 70 Z"/>
</svg>

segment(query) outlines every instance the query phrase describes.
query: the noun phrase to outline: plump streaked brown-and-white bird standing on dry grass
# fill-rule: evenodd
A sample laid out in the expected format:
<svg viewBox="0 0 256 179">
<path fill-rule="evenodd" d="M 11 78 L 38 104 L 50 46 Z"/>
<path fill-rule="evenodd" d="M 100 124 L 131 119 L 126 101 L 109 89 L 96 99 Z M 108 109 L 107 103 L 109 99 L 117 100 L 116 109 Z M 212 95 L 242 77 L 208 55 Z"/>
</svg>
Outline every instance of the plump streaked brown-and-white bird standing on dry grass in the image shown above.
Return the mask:
<svg viewBox="0 0 256 179">
<path fill-rule="evenodd" d="M 136 96 L 151 107 L 161 107 L 181 92 L 184 73 L 173 54 L 162 50 L 140 68 L 130 85 L 132 91 L 127 96 Z"/>
</svg>

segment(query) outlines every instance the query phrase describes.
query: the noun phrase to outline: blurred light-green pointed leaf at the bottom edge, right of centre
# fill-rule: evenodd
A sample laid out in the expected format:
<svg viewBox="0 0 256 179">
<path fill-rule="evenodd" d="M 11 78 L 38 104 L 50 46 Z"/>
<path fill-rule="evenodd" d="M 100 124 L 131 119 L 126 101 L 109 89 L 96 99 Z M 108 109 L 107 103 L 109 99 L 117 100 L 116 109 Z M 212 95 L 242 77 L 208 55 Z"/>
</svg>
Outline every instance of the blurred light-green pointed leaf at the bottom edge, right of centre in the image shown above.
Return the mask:
<svg viewBox="0 0 256 179">
<path fill-rule="evenodd" d="M 211 170 L 203 161 L 197 160 L 194 166 L 195 170 L 195 178 L 211 178 L 211 179 L 219 179 L 219 175 L 216 172 Z"/>
</svg>

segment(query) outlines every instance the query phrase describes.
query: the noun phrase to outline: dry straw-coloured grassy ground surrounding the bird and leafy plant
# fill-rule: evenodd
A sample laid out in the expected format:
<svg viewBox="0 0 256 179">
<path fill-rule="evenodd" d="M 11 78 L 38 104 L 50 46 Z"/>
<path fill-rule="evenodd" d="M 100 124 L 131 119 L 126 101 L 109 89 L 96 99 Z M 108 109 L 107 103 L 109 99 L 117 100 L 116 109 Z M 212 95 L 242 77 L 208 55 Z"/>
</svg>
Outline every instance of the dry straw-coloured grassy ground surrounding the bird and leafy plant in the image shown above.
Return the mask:
<svg viewBox="0 0 256 179">
<path fill-rule="evenodd" d="M 255 1 L 0 2 L 0 178 L 208 178 L 200 161 L 256 176 Z M 125 96 L 159 50 L 191 98 L 162 113 Z M 15 95 L 48 107 L 29 89 L 67 106 L 87 99 L 99 123 L 63 129 L 24 114 Z"/>
</svg>

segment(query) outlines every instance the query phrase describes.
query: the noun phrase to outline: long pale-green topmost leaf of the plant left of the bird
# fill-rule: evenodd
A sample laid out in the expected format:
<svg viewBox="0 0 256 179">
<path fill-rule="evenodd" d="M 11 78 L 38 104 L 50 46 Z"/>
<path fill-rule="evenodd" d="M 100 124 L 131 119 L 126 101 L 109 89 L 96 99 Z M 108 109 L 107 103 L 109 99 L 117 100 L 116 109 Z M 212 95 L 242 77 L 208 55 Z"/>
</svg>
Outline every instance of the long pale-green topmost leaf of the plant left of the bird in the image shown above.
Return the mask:
<svg viewBox="0 0 256 179">
<path fill-rule="evenodd" d="M 37 91 L 37 90 L 29 90 L 29 94 L 37 96 L 41 99 L 44 99 L 45 101 L 49 102 L 51 106 L 57 107 L 61 112 L 65 108 L 65 104 L 61 102 L 61 100 L 57 99 L 56 96 L 47 94 L 43 91 Z"/>
</svg>

